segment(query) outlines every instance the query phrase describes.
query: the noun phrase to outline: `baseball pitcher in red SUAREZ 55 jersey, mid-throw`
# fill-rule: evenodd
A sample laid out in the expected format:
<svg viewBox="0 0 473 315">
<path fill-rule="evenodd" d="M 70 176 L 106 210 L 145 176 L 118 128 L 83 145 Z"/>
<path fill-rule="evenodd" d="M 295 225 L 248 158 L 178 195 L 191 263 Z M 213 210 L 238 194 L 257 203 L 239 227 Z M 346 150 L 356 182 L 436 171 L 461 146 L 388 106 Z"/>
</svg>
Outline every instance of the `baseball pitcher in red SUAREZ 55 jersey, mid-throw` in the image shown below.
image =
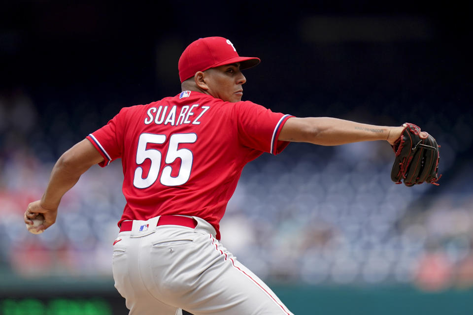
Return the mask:
<svg viewBox="0 0 473 315">
<path fill-rule="evenodd" d="M 28 206 L 25 222 L 43 214 L 39 230 L 47 229 L 62 196 L 86 170 L 121 158 L 127 203 L 113 243 L 113 278 L 130 314 L 292 314 L 220 242 L 219 222 L 243 167 L 264 152 L 281 153 L 291 141 L 332 146 L 386 140 L 401 152 L 406 126 L 297 118 L 242 101 L 241 70 L 259 62 L 240 57 L 223 37 L 191 43 L 178 63 L 181 92 L 123 108 L 70 148 L 42 198 Z M 420 129 L 417 136 L 429 137 Z M 418 148 L 434 152 L 427 146 Z M 438 156 L 432 163 L 438 165 Z M 405 178 L 407 167 L 401 168 L 396 181 Z M 422 182 L 413 177 L 409 184 Z"/>
</svg>

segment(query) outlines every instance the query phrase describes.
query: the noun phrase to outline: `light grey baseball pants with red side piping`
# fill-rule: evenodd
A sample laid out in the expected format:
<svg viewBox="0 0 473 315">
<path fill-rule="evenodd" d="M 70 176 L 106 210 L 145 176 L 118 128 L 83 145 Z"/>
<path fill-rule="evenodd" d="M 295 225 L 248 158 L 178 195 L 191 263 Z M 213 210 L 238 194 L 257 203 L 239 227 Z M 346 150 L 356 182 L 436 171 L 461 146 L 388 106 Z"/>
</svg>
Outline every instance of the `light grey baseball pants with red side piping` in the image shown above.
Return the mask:
<svg viewBox="0 0 473 315">
<path fill-rule="evenodd" d="M 158 217 L 159 218 L 159 217 Z M 293 315 L 194 217 L 195 228 L 138 221 L 113 246 L 115 287 L 130 315 Z M 150 228 L 139 232 L 147 222 Z M 153 227 L 154 225 L 154 227 Z"/>
</svg>

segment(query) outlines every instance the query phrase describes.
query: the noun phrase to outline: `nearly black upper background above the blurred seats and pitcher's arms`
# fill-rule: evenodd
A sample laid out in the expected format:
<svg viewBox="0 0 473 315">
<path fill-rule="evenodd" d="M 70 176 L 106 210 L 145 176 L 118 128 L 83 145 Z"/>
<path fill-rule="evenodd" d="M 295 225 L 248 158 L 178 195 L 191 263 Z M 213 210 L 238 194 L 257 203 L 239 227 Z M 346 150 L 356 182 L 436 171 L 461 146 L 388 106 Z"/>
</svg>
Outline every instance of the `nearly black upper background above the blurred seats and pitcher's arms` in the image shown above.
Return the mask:
<svg viewBox="0 0 473 315">
<path fill-rule="evenodd" d="M 218 35 L 262 59 L 244 72 L 245 100 L 297 116 L 414 122 L 468 164 L 470 7 L 378 2 L 3 1 L 0 95 L 6 112 L 15 95 L 31 99 L 35 124 L 22 141 L 53 144 L 42 158 L 54 159 L 121 107 L 178 94 L 180 53 Z"/>
</svg>

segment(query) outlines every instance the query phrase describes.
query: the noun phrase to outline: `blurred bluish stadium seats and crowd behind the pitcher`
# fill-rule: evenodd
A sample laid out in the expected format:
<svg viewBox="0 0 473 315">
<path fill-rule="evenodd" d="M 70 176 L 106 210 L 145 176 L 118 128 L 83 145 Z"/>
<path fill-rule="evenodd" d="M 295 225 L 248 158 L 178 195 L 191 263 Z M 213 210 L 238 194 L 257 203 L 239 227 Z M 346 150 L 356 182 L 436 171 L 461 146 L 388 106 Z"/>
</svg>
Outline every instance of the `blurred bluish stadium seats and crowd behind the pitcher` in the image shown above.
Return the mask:
<svg viewBox="0 0 473 315">
<path fill-rule="evenodd" d="M 120 161 L 93 166 L 64 196 L 56 224 L 28 233 L 23 212 L 41 197 L 55 158 L 80 138 L 61 115 L 41 121 L 22 91 L 0 96 L 0 273 L 109 279 L 125 205 Z M 48 132 L 61 136 L 51 142 Z M 457 151 L 439 143 L 447 173 Z M 222 243 L 271 281 L 473 287 L 472 190 L 395 185 L 392 160 L 383 141 L 293 143 L 263 155 L 243 171 Z M 467 168 L 447 183 L 471 187 L 472 175 Z"/>
</svg>

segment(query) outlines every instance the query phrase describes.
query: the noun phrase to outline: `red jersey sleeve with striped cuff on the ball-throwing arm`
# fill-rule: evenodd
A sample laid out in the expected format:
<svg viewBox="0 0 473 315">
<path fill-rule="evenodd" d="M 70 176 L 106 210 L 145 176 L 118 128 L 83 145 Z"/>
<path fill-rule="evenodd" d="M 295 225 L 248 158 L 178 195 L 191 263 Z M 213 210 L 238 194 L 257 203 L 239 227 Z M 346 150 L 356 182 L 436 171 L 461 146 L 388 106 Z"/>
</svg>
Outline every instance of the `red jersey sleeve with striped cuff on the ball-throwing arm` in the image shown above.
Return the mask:
<svg viewBox="0 0 473 315">
<path fill-rule="evenodd" d="M 107 166 L 114 159 L 121 158 L 125 121 L 126 110 L 122 108 L 105 126 L 86 137 L 103 157 L 104 160 L 99 163 L 101 167 Z"/>
</svg>

